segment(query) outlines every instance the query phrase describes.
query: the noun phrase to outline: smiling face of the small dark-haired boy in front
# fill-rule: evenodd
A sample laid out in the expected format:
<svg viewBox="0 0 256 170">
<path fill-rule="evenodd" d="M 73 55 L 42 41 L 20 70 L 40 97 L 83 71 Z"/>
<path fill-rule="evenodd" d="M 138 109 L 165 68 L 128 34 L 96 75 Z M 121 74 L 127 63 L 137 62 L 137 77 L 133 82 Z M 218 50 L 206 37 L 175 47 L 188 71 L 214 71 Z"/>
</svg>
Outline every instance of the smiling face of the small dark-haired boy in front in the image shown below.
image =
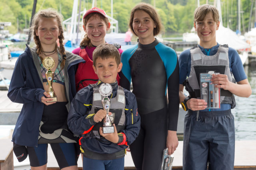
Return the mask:
<svg viewBox="0 0 256 170">
<path fill-rule="evenodd" d="M 108 59 L 98 58 L 95 65 L 93 69 L 99 80 L 109 84 L 116 82 L 116 76 L 122 69 L 122 63 L 117 65 L 114 57 L 109 57 Z"/>
</svg>

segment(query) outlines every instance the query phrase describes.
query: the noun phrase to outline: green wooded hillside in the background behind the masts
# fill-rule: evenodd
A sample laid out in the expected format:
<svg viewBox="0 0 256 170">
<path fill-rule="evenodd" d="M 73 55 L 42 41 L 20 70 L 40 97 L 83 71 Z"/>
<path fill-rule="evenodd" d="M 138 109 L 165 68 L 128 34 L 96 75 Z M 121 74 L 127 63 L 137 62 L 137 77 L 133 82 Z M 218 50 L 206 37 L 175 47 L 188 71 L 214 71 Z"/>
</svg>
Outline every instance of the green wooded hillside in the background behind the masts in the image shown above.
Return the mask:
<svg viewBox="0 0 256 170">
<path fill-rule="evenodd" d="M 248 31 L 251 4 L 255 0 L 241 0 L 241 32 Z M 22 32 L 30 25 L 34 0 L 1 0 L 0 22 L 8 21 L 12 25 L 7 27 L 10 33 Z M 97 0 L 97 6 L 105 10 L 110 16 L 110 0 Z M 126 32 L 131 9 L 142 2 L 140 0 L 113 0 L 113 16 L 118 20 L 119 32 Z M 144 0 L 143 2 L 154 5 L 162 19 L 164 33 L 189 32 L 193 27 L 194 10 L 197 0 Z M 214 5 L 214 0 L 200 0 L 200 4 Z M 256 2 L 255 2 L 256 3 Z M 36 12 L 40 9 L 54 8 L 60 12 L 64 20 L 72 15 L 72 0 L 37 0 Z M 222 20 L 225 27 L 233 31 L 237 29 L 237 0 L 221 0 Z M 90 9 L 92 0 L 82 0 L 81 9 Z M 252 8 L 250 27 L 255 23 L 255 4 Z"/>
</svg>

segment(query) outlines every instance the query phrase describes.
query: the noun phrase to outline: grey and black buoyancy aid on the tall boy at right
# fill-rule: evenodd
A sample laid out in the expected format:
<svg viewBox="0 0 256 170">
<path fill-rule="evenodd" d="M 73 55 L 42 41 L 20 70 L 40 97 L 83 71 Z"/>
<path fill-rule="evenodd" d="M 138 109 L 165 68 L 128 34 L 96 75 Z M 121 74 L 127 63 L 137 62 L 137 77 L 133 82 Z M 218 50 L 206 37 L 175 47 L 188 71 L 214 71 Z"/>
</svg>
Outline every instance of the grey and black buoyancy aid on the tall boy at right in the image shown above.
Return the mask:
<svg viewBox="0 0 256 170">
<path fill-rule="evenodd" d="M 226 74 L 228 80 L 235 83 L 229 67 L 228 45 L 220 45 L 217 53 L 212 56 L 204 55 L 197 45 L 190 49 L 190 54 L 190 75 L 188 76 L 188 79 L 183 82 L 183 85 L 192 98 L 200 98 L 200 73 L 214 71 L 220 74 Z M 221 104 L 230 104 L 231 108 L 236 106 L 234 94 L 228 90 L 221 89 L 220 102 Z"/>
</svg>

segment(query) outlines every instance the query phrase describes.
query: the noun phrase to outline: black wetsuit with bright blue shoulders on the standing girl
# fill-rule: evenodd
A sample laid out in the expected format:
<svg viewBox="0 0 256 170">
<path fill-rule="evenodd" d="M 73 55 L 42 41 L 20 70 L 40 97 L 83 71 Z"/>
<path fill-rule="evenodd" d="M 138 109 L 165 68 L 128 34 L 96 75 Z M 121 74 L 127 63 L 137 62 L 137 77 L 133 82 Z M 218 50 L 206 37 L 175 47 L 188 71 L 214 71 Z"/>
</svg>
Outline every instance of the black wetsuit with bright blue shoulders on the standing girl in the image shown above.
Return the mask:
<svg viewBox="0 0 256 170">
<path fill-rule="evenodd" d="M 179 111 L 179 66 L 176 52 L 154 41 L 124 51 L 120 85 L 133 93 L 141 116 L 140 134 L 130 145 L 137 169 L 158 170 L 167 130 L 176 131 Z M 168 87 L 168 100 L 166 90 Z"/>
</svg>

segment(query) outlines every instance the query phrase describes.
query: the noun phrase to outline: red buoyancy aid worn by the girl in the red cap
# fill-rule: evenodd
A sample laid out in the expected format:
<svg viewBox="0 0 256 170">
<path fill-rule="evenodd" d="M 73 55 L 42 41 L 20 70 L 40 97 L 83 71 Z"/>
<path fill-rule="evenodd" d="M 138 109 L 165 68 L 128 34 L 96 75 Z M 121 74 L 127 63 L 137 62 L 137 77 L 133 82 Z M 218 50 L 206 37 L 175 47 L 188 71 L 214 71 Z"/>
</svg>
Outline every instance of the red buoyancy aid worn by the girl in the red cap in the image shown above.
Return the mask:
<svg viewBox="0 0 256 170">
<path fill-rule="evenodd" d="M 93 61 L 90 59 L 86 52 L 85 46 L 80 46 L 79 56 L 86 62 L 79 63 L 76 70 L 76 91 L 88 86 L 89 84 L 95 84 L 98 81 L 98 76 L 93 69 Z M 117 74 L 116 80 L 119 82 L 120 76 Z"/>
</svg>

